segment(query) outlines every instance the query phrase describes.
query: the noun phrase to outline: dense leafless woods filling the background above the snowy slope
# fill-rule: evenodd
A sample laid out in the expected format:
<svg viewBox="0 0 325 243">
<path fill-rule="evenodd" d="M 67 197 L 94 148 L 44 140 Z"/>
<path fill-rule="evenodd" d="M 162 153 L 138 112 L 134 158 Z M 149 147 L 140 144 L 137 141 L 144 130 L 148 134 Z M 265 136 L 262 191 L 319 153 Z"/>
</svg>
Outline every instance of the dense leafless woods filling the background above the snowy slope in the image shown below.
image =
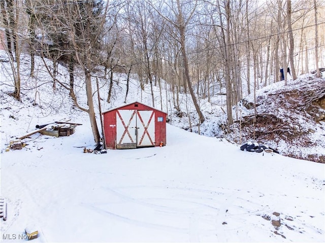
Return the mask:
<svg viewBox="0 0 325 243">
<path fill-rule="evenodd" d="M 325 66 L 325 4 L 322 0 L 261 1 L 103 1 L 3 0 L 2 48 L 10 56 L 12 95 L 21 98 L 20 54 L 30 55 L 30 79 L 38 79 L 35 55 L 42 58 L 57 85 L 66 88 L 75 106 L 87 112 L 95 143 L 100 134 L 93 106 L 95 72 L 113 86 L 113 74 L 132 74 L 140 86 L 151 86 L 152 105 L 162 103 L 163 88 L 173 92 L 181 114 L 179 93 L 188 93 L 199 117 L 201 99 L 226 94 L 227 125 L 232 107 L 246 95 L 271 83 Z M 0 35 L 1 36 L 1 35 Z M 52 60 L 48 65 L 45 58 Z M 57 79 L 58 64 L 69 69 L 70 81 Z M 80 67 L 87 91 L 81 106 L 74 78 Z M 290 70 L 290 76 L 280 70 Z M 166 81 L 165 87 L 162 80 Z M 42 84 L 41 84 L 42 85 Z M 160 95 L 155 95 L 153 87 Z M 32 88 L 32 87 L 30 87 Z M 109 89 L 106 102 L 110 102 Z M 256 98 L 256 97 L 255 97 Z M 166 101 L 168 102 L 168 101 Z M 256 103 L 256 100 L 254 100 Z M 162 107 L 157 107 L 161 109 Z M 255 111 L 256 114 L 256 111 Z"/>
</svg>

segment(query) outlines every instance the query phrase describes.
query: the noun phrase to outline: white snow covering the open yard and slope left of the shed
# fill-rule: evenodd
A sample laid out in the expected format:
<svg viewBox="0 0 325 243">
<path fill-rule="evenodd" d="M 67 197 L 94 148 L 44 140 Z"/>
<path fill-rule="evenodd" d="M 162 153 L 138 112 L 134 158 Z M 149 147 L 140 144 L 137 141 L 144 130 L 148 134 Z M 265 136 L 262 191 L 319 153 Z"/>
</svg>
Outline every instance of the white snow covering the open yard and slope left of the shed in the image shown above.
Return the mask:
<svg viewBox="0 0 325 243">
<path fill-rule="evenodd" d="M 26 67 L 25 80 L 27 73 Z M 68 79 L 64 67 L 58 73 Z M 89 118 L 72 108 L 67 91 L 57 85 L 60 98 L 54 101 L 49 83 L 39 87 L 37 105 L 35 90 L 24 90 L 18 102 L 6 94 L 10 76 L 0 75 L 0 197 L 8 204 L 7 221 L 0 219 L 3 242 L 25 241 L 29 225 L 39 232 L 33 242 L 325 240 L 324 164 L 241 151 L 225 139 L 169 124 L 164 147 L 83 153 L 93 146 Z M 123 78 L 115 76 L 119 85 Z M 103 101 L 102 110 L 122 105 L 124 90 L 118 87 L 116 99 Z M 128 102 L 151 105 L 149 92 L 131 90 Z M 85 103 L 82 91 L 80 85 Z M 106 94 L 107 87 L 101 90 L 104 100 Z M 36 133 L 23 149 L 5 151 L 36 124 L 64 118 L 83 125 L 66 137 Z"/>
</svg>

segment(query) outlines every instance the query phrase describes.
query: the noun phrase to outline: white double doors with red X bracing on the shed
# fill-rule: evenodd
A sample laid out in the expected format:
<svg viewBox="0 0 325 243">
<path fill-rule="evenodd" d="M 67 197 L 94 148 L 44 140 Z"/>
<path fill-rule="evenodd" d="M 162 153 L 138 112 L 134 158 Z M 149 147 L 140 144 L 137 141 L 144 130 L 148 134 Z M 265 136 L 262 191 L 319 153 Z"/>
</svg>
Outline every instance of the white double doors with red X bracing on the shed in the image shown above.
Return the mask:
<svg viewBox="0 0 325 243">
<path fill-rule="evenodd" d="M 116 148 L 133 149 L 154 146 L 154 111 L 117 110 Z"/>
</svg>

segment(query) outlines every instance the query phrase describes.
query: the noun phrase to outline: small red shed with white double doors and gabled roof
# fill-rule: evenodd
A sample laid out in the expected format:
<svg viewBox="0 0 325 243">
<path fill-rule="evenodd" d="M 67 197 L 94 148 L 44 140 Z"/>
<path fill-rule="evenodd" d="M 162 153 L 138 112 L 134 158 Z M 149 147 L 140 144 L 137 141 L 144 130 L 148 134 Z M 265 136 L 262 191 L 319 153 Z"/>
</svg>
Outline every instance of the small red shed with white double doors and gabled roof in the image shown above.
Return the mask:
<svg viewBox="0 0 325 243">
<path fill-rule="evenodd" d="M 135 101 L 103 112 L 103 117 L 107 148 L 166 145 L 166 112 Z"/>
</svg>

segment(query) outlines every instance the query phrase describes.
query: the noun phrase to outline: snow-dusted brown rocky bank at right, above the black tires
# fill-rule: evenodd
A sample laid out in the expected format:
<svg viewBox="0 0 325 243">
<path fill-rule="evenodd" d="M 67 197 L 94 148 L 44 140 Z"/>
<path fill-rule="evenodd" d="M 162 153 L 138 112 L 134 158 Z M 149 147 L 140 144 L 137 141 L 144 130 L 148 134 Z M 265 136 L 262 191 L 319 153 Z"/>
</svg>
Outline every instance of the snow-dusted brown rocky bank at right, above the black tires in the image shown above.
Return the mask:
<svg viewBox="0 0 325 243">
<path fill-rule="evenodd" d="M 235 142 L 265 143 L 283 155 L 325 163 L 324 78 L 307 75 L 258 90 L 256 116 L 253 94 L 239 107 L 241 116 L 229 134 Z"/>
</svg>

